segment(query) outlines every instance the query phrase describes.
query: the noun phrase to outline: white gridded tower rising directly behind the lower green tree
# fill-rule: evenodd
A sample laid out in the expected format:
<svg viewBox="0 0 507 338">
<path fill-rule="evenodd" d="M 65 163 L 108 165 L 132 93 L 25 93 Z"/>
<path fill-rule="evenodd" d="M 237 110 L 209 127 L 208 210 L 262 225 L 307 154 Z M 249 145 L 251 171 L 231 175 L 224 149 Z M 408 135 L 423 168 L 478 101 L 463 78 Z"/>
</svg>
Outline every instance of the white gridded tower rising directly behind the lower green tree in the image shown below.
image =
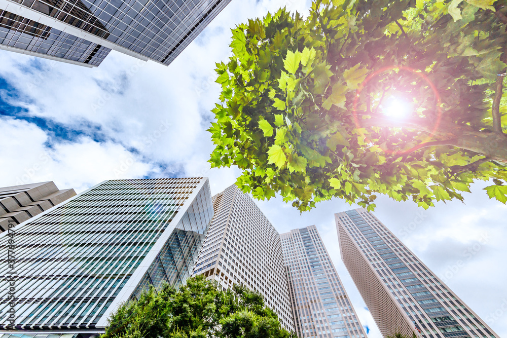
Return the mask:
<svg viewBox="0 0 507 338">
<path fill-rule="evenodd" d="M 213 209 L 194 275 L 203 274 L 223 288 L 242 284 L 258 291 L 282 326 L 294 330 L 278 232 L 236 185 L 213 196 Z"/>
</svg>

